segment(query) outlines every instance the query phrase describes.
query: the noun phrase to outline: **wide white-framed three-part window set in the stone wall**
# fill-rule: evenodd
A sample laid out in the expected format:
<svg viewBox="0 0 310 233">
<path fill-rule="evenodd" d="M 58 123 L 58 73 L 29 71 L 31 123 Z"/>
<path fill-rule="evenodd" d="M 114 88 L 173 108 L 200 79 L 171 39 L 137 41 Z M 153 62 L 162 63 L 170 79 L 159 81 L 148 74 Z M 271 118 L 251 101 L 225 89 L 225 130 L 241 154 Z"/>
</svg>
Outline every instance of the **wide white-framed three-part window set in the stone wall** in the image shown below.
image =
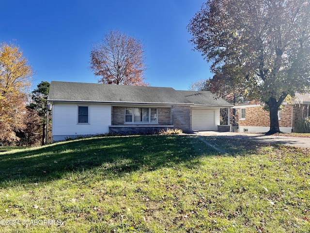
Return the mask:
<svg viewBox="0 0 310 233">
<path fill-rule="evenodd" d="M 157 123 L 157 108 L 126 108 L 126 123 Z"/>
</svg>

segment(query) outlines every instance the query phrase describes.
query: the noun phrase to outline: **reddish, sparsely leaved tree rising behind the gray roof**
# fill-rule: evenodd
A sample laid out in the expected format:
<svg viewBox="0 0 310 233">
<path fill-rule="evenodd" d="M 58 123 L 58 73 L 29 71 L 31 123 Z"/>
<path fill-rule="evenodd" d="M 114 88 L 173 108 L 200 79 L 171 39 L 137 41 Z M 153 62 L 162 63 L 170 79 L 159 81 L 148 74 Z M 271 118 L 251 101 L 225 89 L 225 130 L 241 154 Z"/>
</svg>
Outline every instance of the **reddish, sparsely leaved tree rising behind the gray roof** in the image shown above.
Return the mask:
<svg viewBox="0 0 310 233">
<path fill-rule="evenodd" d="M 120 31 L 110 31 L 93 45 L 90 68 L 98 83 L 146 86 L 144 49 L 140 40 Z"/>
</svg>

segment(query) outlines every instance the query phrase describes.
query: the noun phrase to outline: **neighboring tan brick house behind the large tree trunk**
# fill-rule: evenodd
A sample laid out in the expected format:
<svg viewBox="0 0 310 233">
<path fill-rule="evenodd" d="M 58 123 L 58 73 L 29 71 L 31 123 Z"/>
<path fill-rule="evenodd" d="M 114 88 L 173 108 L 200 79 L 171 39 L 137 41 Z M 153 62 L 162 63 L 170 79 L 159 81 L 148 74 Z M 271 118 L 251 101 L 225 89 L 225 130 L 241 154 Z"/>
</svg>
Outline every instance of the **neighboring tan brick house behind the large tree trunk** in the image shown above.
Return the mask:
<svg viewBox="0 0 310 233">
<path fill-rule="evenodd" d="M 283 103 L 283 108 L 278 112 L 279 127 L 281 132 L 294 132 L 294 125 L 298 117 L 309 116 L 310 95 L 296 93 L 291 103 Z M 262 105 L 247 102 L 234 106 L 238 110 L 239 132 L 264 133 L 270 129 L 269 112 L 264 111 Z"/>
</svg>

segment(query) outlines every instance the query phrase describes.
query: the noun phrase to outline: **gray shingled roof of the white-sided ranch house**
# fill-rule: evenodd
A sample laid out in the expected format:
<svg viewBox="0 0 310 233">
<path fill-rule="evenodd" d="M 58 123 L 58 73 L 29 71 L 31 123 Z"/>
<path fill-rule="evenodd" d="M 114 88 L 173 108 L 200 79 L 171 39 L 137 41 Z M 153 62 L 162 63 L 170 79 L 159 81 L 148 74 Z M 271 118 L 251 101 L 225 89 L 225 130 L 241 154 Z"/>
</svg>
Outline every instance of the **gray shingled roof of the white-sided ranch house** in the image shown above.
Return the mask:
<svg viewBox="0 0 310 233">
<path fill-rule="evenodd" d="M 56 81 L 50 83 L 48 100 L 232 106 L 208 91 L 177 91 L 170 87 Z"/>
</svg>

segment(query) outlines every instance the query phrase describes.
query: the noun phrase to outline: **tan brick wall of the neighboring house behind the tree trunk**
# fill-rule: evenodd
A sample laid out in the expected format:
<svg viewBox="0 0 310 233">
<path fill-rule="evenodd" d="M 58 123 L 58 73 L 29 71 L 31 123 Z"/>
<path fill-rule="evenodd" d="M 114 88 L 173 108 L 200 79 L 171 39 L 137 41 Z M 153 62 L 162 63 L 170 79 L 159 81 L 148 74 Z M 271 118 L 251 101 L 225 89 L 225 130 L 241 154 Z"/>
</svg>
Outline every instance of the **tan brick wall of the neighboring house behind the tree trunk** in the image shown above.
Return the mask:
<svg viewBox="0 0 310 233">
<path fill-rule="evenodd" d="M 279 127 L 291 127 L 292 106 L 285 105 L 280 113 Z M 269 127 L 269 112 L 264 111 L 261 106 L 246 108 L 246 119 L 240 119 L 240 126 Z"/>
</svg>

